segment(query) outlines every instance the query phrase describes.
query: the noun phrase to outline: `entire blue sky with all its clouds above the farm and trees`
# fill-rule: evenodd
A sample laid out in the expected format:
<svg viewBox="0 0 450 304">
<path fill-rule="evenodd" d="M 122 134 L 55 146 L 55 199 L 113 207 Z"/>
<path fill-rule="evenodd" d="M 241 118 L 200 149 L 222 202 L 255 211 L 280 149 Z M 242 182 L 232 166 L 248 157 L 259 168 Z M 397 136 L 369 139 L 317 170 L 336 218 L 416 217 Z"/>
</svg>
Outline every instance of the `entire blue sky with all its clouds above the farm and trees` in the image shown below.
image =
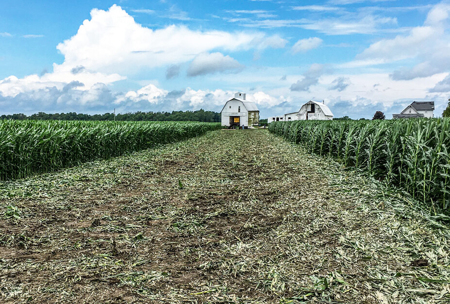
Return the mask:
<svg viewBox="0 0 450 304">
<path fill-rule="evenodd" d="M 63 3 L 64 2 L 64 3 Z M 261 116 L 324 100 L 335 117 L 387 117 L 450 98 L 450 2 L 8 1 L 0 114 L 220 111 Z"/>
</svg>

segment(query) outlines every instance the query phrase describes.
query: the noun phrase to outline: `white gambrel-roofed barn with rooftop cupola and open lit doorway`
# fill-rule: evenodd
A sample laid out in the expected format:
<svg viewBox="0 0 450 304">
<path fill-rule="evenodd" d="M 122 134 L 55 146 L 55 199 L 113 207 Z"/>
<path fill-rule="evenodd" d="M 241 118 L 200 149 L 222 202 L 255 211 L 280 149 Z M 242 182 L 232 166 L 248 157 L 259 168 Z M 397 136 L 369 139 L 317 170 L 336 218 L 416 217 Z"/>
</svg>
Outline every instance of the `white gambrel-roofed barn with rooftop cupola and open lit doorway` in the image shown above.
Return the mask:
<svg viewBox="0 0 450 304">
<path fill-rule="evenodd" d="M 259 110 L 254 102 L 245 100 L 245 93 L 237 92 L 221 111 L 222 126 L 250 127 L 259 124 Z"/>
</svg>

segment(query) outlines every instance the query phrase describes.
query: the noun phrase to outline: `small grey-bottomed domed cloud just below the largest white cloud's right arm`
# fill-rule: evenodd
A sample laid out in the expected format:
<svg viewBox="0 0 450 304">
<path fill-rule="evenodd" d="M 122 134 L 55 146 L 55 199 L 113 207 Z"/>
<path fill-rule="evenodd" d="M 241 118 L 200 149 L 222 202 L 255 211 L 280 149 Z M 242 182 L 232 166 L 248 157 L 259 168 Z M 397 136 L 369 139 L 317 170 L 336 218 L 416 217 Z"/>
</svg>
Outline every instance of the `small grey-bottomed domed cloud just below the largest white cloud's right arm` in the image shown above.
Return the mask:
<svg viewBox="0 0 450 304">
<path fill-rule="evenodd" d="M 194 58 L 187 69 L 187 76 L 213 74 L 225 71 L 239 71 L 243 68 L 235 59 L 222 53 L 205 53 Z"/>
</svg>

